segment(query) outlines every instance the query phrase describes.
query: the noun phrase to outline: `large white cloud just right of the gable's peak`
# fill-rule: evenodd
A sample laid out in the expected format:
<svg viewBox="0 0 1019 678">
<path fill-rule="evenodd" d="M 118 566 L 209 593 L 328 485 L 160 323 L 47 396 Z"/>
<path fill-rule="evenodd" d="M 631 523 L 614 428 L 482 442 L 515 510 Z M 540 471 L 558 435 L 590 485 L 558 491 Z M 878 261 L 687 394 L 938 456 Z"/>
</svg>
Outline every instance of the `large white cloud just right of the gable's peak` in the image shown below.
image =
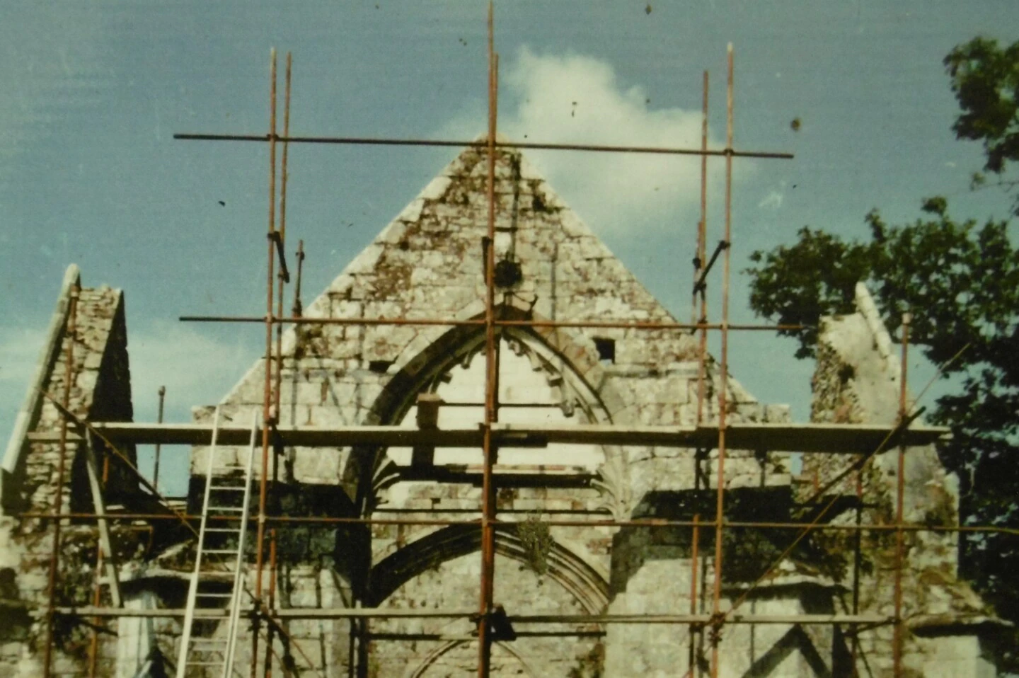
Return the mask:
<svg viewBox="0 0 1019 678">
<path fill-rule="evenodd" d="M 700 110 L 652 108 L 647 92 L 621 84 L 612 66 L 577 55 L 518 52 L 500 79 L 499 131 L 518 142 L 699 148 Z M 484 129 L 478 116 L 443 134 L 471 137 Z M 723 144 L 709 136 L 709 148 Z M 693 229 L 700 203 L 696 156 L 526 151 L 552 187 L 599 232 Z M 741 163 L 737 163 L 739 166 Z M 743 163 L 744 169 L 746 163 Z M 709 160 L 711 199 L 720 195 L 722 163 Z"/>
</svg>

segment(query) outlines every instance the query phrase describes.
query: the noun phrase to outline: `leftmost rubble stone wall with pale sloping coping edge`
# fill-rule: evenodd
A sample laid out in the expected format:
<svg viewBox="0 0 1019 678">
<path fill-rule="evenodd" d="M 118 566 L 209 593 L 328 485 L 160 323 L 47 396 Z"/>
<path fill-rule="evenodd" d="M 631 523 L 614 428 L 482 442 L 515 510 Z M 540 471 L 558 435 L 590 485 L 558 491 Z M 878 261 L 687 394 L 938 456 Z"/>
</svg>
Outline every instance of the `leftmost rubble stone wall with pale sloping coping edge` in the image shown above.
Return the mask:
<svg viewBox="0 0 1019 678">
<path fill-rule="evenodd" d="M 74 331 L 66 327 L 56 362 L 43 389 L 57 400 L 64 394 L 67 347 L 73 343 L 68 409 L 83 419 L 131 419 L 130 381 L 126 353 L 123 296 L 109 288 L 83 289 L 77 294 Z M 25 454 L 14 472 L 5 498 L 8 514 L 0 525 L 0 582 L 10 614 L 0 614 L 0 674 L 41 675 L 44 619 L 48 604 L 48 571 L 53 550 L 53 521 L 20 519 L 22 512 L 51 513 L 55 508 L 62 417 L 49 400 L 44 400 L 39 422 L 30 432 Z M 63 512 L 92 512 L 92 498 L 84 466 L 81 431 L 71 423 L 70 441 L 64 458 Z M 100 447 L 97 453 L 102 455 Z M 133 460 L 133 449 L 124 450 Z M 132 491 L 125 473 L 113 465 L 108 489 L 121 494 Z M 137 483 L 135 485 L 137 487 Z M 96 545 L 94 531 L 64 523 L 61 535 L 56 604 L 91 603 Z M 85 675 L 86 632 L 67 621 L 55 624 L 53 675 Z"/>
</svg>

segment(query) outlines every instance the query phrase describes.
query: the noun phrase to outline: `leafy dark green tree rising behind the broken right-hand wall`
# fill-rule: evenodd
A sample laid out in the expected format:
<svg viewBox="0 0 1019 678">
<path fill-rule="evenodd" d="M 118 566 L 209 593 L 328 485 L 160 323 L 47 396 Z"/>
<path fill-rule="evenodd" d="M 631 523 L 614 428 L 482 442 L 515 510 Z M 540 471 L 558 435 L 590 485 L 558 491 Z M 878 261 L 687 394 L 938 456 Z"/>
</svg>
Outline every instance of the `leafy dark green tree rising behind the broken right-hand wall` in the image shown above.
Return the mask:
<svg viewBox="0 0 1019 678">
<path fill-rule="evenodd" d="M 977 38 L 945 64 L 962 111 L 953 129 L 981 141 L 984 171 L 1014 190 L 1005 172 L 1019 159 L 1019 42 L 1000 48 Z M 931 362 L 962 352 L 945 369 L 958 387 L 930 417 L 952 428 L 940 453 L 960 479 L 961 520 L 1019 527 L 1019 250 L 1007 220 L 958 221 L 944 198 L 924 200 L 921 210 L 901 225 L 872 210 L 867 239 L 804 227 L 791 246 L 754 252 L 750 305 L 775 322 L 816 326 L 820 316 L 853 312 L 854 286 L 863 280 L 888 325 L 913 312 L 910 342 Z M 786 333 L 800 340 L 797 357 L 813 354 L 816 330 Z M 960 543 L 963 576 L 1000 615 L 1019 622 L 1019 538 L 975 534 Z"/>
</svg>

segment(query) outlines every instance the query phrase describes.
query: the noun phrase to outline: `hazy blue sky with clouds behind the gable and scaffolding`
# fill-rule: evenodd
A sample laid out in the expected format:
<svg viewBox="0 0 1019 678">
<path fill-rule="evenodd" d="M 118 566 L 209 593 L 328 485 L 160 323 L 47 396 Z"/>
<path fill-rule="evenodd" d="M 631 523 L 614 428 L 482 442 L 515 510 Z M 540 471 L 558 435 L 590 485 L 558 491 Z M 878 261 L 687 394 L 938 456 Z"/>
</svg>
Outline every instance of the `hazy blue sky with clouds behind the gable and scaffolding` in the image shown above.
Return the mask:
<svg viewBox="0 0 1019 678">
<path fill-rule="evenodd" d="M 733 42 L 736 146 L 796 154 L 738 168 L 735 321 L 753 320 L 736 273 L 747 255 L 805 224 L 862 237 L 872 207 L 892 222 L 912 219 L 935 194 L 959 216 L 1006 213 L 1001 196 L 967 191 L 979 148 L 951 133 L 957 109 L 941 60 L 975 35 L 1014 40 L 1011 0 L 648 6 L 497 2 L 500 127 L 529 141 L 695 145 L 707 68 L 720 140 Z M 155 418 L 162 383 L 168 418 L 189 420 L 192 405 L 217 401 L 259 353 L 257 326 L 176 318 L 263 312 L 267 149 L 173 133 L 264 134 L 276 47 L 293 53 L 294 135 L 473 138 L 485 128 L 486 11 L 468 0 L 4 2 L 0 439 L 68 263 L 86 285 L 126 293 L 140 420 Z M 291 147 L 287 222 L 309 252 L 306 301 L 454 154 Z M 689 317 L 696 161 L 532 155 L 651 292 Z M 719 177 L 713 168 L 712 243 Z M 755 333 L 732 345 L 736 376 L 806 419 L 812 367 L 792 358 L 792 342 Z"/>
</svg>

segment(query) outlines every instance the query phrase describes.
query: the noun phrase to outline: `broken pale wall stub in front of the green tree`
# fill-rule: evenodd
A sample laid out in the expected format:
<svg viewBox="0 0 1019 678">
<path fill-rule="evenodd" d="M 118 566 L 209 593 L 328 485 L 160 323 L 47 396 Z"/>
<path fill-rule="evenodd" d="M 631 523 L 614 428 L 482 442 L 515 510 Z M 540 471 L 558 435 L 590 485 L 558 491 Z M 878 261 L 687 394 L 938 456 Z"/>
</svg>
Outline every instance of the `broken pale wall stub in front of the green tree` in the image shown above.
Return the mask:
<svg viewBox="0 0 1019 678">
<path fill-rule="evenodd" d="M 899 421 L 902 366 L 891 334 L 863 283 L 856 288 L 857 312 L 823 318 L 813 376 L 811 419 L 815 422 L 880 423 Z M 907 394 L 907 407 L 912 403 Z M 807 474 L 828 490 L 855 496 L 855 478 L 845 469 L 852 461 L 834 455 L 804 455 Z M 899 485 L 899 448 L 886 445 L 862 468 L 860 482 L 866 507 L 864 522 L 891 524 L 896 521 Z M 947 473 L 932 446 L 909 448 L 903 458 L 903 521 L 912 525 L 958 524 L 958 482 Z M 840 520 L 852 521 L 849 514 Z M 989 613 L 970 586 L 957 579 L 958 535 L 951 532 L 911 531 L 904 536 L 907 587 L 905 616 L 910 623 L 956 628 L 983 623 Z M 864 608 L 878 608 L 891 594 L 895 554 L 881 547 L 864 557 L 876 565 L 877 586 L 873 601 Z M 934 620 L 934 621 L 931 621 Z M 974 621 L 975 620 L 975 621 Z"/>
</svg>

